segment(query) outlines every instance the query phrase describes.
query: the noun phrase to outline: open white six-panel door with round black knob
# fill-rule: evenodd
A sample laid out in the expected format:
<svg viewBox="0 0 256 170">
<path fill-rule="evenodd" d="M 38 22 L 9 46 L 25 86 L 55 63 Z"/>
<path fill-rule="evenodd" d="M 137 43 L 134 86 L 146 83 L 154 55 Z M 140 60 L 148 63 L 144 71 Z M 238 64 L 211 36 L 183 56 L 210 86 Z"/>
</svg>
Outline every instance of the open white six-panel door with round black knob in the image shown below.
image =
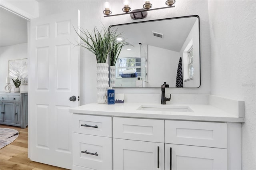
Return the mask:
<svg viewBox="0 0 256 170">
<path fill-rule="evenodd" d="M 74 31 L 80 12 L 32 19 L 30 48 L 30 159 L 72 168 L 70 107 L 79 105 L 79 48 Z M 76 101 L 70 101 L 71 96 Z"/>
</svg>

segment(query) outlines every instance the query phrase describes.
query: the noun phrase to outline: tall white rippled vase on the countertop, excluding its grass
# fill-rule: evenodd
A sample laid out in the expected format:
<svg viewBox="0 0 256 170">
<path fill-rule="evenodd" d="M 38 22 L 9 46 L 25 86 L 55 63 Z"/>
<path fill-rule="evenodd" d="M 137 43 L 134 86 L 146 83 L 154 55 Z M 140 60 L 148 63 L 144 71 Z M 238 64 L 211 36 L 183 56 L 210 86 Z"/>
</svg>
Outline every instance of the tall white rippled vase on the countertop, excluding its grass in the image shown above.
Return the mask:
<svg viewBox="0 0 256 170">
<path fill-rule="evenodd" d="M 108 64 L 97 63 L 97 103 L 107 103 Z"/>
</svg>

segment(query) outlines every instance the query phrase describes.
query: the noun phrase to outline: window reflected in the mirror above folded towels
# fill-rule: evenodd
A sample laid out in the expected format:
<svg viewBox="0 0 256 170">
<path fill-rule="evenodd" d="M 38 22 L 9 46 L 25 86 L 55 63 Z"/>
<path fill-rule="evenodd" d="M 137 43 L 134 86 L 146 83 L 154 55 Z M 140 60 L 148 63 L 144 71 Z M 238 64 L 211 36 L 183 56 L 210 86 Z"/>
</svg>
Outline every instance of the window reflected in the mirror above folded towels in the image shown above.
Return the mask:
<svg viewBox="0 0 256 170">
<path fill-rule="evenodd" d="M 118 58 L 116 64 L 116 78 L 121 78 L 124 70 L 136 69 L 138 76 L 141 76 L 140 57 Z"/>
</svg>

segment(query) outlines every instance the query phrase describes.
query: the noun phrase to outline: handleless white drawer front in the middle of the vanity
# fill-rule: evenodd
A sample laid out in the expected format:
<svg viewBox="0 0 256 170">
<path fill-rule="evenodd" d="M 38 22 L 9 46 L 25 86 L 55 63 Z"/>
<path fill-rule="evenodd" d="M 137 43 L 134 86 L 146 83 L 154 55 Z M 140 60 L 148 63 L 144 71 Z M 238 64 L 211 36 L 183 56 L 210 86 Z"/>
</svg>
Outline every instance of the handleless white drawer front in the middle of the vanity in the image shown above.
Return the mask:
<svg viewBox="0 0 256 170">
<path fill-rule="evenodd" d="M 164 120 L 114 117 L 113 137 L 164 143 Z"/>
</svg>

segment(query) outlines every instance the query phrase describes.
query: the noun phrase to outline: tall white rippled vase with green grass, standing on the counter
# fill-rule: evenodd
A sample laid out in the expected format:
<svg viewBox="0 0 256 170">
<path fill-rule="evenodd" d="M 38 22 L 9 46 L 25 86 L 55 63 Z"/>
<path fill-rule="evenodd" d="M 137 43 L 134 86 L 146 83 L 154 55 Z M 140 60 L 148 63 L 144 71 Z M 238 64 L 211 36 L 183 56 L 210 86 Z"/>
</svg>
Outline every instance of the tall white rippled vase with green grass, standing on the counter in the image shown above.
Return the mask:
<svg viewBox="0 0 256 170">
<path fill-rule="evenodd" d="M 97 61 L 97 103 L 107 103 L 107 89 L 108 85 L 108 64 L 106 60 L 110 51 L 112 51 L 112 42 L 120 35 L 116 30 L 108 31 L 105 27 L 102 30 L 98 30 L 94 26 L 92 33 L 88 30 L 78 28 L 80 34 L 76 31 L 76 34 L 82 40 L 82 43 L 77 45 L 88 49 L 96 56 Z"/>
</svg>

